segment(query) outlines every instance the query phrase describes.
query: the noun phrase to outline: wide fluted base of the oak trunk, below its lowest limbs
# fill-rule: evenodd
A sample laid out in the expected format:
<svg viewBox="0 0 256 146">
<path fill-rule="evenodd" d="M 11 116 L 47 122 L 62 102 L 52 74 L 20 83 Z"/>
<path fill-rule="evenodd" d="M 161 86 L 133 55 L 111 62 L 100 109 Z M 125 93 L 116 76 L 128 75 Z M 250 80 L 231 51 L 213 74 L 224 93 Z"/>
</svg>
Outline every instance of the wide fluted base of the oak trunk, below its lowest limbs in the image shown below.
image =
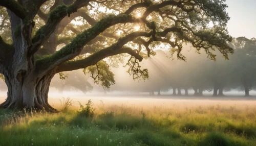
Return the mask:
<svg viewBox="0 0 256 146">
<path fill-rule="evenodd" d="M 48 103 L 48 92 L 54 71 L 38 80 L 38 76 L 31 72 L 26 77 L 13 78 L 5 76 L 8 87 L 7 99 L 0 105 L 0 108 L 22 110 L 46 110 L 58 112 Z M 13 74 L 14 75 L 14 74 Z"/>
</svg>

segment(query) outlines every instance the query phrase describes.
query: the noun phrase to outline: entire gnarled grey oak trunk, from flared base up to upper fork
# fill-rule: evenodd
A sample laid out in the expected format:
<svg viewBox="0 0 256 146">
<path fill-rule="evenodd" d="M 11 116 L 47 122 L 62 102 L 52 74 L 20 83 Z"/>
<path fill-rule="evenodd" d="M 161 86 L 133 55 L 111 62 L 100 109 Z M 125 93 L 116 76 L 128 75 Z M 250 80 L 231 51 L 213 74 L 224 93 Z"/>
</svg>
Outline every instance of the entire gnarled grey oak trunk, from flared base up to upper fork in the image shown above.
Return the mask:
<svg viewBox="0 0 256 146">
<path fill-rule="evenodd" d="M 11 22 L 13 45 L 10 56 L 5 59 L 1 73 L 8 87 L 7 99 L 0 108 L 7 109 L 45 109 L 54 111 L 48 103 L 48 91 L 54 71 L 44 72 L 35 66 L 31 34 L 34 22 L 27 23 L 8 10 Z M 18 29 L 20 28 L 20 29 Z M 3 58 L 1 58 L 3 59 Z M 53 69 L 54 70 L 54 69 Z"/>
</svg>

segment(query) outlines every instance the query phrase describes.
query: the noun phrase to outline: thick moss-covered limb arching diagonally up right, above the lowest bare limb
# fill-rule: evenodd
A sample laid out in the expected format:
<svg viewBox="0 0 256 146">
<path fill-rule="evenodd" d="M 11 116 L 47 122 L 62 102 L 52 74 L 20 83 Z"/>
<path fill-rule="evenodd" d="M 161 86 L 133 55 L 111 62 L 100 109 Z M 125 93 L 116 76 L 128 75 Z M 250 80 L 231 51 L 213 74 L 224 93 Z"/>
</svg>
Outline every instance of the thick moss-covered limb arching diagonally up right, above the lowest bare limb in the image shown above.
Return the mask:
<svg viewBox="0 0 256 146">
<path fill-rule="evenodd" d="M 38 67 L 39 68 L 42 67 L 45 70 L 49 70 L 58 66 L 63 62 L 71 60 L 80 54 L 84 45 L 86 45 L 89 41 L 91 41 L 100 33 L 102 33 L 105 29 L 111 26 L 114 26 L 117 23 L 132 22 L 133 20 L 134 19 L 132 16 L 125 15 L 125 14 L 119 14 L 117 16 L 115 15 L 106 16 L 102 18 L 99 22 L 97 22 L 96 25 L 94 25 L 92 28 L 77 35 L 71 41 L 71 43 L 67 44 L 65 47 L 61 48 L 59 51 L 57 51 L 53 55 L 48 56 L 44 59 L 38 60 L 37 64 L 40 66 Z"/>
</svg>

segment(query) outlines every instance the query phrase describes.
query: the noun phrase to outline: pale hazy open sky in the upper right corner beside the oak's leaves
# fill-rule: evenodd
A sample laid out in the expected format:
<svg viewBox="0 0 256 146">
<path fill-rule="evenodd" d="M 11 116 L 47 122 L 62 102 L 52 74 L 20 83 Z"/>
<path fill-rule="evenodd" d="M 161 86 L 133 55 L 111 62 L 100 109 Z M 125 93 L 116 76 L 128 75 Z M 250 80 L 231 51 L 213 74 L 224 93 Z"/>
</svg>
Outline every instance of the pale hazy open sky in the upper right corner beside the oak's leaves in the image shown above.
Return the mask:
<svg viewBox="0 0 256 146">
<path fill-rule="evenodd" d="M 228 31 L 232 37 L 256 38 L 256 1 L 227 0 L 230 20 Z"/>
</svg>

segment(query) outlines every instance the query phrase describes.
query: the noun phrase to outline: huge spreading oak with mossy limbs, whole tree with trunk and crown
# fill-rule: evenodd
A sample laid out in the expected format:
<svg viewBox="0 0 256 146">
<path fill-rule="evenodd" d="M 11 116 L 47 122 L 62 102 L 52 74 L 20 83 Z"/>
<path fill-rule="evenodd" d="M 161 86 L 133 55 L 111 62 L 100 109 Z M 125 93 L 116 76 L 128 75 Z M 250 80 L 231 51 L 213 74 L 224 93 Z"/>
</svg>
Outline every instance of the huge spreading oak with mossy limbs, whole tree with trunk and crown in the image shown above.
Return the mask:
<svg viewBox="0 0 256 146">
<path fill-rule="evenodd" d="M 109 87 L 115 82 L 109 67 L 122 61 L 120 54 L 132 56 L 133 78 L 145 79 L 139 61 L 154 55 L 154 47 L 167 45 L 181 60 L 183 43 L 213 60 L 212 50 L 225 58 L 233 52 L 225 0 L 2 0 L 0 6 L 0 74 L 8 86 L 0 108 L 55 112 L 48 103 L 55 74 L 84 68 Z"/>
</svg>

